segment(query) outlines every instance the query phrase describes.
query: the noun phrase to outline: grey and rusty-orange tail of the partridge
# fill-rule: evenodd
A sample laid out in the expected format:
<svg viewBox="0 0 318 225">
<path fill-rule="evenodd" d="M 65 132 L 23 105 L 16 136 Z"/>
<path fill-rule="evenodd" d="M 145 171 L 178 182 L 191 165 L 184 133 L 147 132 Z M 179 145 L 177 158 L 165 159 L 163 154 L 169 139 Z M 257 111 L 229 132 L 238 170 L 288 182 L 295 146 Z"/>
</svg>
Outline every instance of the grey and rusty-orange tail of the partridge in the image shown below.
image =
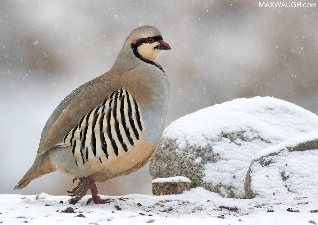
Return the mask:
<svg viewBox="0 0 318 225">
<path fill-rule="evenodd" d="M 48 151 L 36 156 L 31 168 L 26 172 L 24 177 L 17 183 L 14 189 L 23 189 L 32 180 L 39 178 L 45 174 L 54 172 L 56 169 L 51 164 L 50 157 L 48 157 Z"/>
</svg>

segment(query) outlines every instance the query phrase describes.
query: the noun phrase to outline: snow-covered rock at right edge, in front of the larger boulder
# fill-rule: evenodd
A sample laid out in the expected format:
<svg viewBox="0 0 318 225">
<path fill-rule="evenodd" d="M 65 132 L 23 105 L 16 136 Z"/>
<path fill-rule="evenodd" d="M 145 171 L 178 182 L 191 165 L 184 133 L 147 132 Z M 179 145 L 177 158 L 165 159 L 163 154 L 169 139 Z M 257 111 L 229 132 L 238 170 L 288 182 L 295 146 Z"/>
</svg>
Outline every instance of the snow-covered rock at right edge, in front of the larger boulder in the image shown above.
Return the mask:
<svg viewBox="0 0 318 225">
<path fill-rule="evenodd" d="M 256 154 L 245 179 L 247 199 L 318 196 L 318 131 L 288 139 Z"/>
</svg>

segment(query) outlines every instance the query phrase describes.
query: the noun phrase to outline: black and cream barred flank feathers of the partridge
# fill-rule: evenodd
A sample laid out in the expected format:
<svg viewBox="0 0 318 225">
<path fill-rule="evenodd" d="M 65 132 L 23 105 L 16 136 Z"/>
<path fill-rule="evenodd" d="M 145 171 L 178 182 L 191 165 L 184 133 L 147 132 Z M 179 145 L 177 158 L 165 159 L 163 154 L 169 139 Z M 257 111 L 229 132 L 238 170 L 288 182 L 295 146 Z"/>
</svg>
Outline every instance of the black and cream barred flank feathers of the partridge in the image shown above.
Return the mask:
<svg viewBox="0 0 318 225">
<path fill-rule="evenodd" d="M 91 109 L 65 136 L 60 147 L 71 146 L 75 163 L 108 159 L 128 152 L 142 132 L 141 111 L 135 98 L 125 89 L 113 92 L 103 103 Z"/>
</svg>

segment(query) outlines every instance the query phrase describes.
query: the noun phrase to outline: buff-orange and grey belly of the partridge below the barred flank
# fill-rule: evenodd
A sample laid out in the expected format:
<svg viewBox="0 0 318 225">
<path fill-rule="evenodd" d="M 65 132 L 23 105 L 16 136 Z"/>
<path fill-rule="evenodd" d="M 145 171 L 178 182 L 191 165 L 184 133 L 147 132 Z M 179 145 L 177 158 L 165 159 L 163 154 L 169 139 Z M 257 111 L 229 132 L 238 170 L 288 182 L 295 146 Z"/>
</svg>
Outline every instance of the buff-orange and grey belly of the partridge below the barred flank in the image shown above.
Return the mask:
<svg viewBox="0 0 318 225">
<path fill-rule="evenodd" d="M 126 152 L 119 149 L 118 156 L 109 149 L 108 158 L 104 154 L 88 154 L 88 160 L 73 156 L 70 147 L 51 149 L 49 157 L 55 169 L 74 178 L 90 177 L 97 182 L 104 182 L 114 177 L 128 175 L 144 167 L 156 153 L 158 143 L 149 144 L 144 137 L 129 147 Z M 96 149 L 102 153 L 102 149 Z"/>
</svg>

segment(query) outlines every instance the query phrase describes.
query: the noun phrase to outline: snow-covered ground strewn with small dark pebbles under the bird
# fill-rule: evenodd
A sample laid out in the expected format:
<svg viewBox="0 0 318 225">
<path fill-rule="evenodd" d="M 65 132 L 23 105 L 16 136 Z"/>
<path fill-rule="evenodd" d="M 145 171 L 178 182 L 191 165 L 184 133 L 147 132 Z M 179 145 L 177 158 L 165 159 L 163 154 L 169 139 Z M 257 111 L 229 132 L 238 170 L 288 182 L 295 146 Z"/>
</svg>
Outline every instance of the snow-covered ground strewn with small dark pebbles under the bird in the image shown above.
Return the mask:
<svg viewBox="0 0 318 225">
<path fill-rule="evenodd" d="M 281 203 L 266 198 L 230 199 L 201 187 L 181 195 L 102 196 L 109 204 L 70 205 L 69 196 L 0 195 L 2 224 L 315 224 L 318 199 L 290 196 Z M 37 200 L 38 199 L 38 200 Z M 63 201 L 63 203 L 61 202 Z M 62 213 L 72 207 L 75 213 Z M 288 208 L 299 212 L 287 211 Z M 82 214 L 84 217 L 77 217 Z M 310 222 L 311 221 L 311 222 Z"/>
</svg>

